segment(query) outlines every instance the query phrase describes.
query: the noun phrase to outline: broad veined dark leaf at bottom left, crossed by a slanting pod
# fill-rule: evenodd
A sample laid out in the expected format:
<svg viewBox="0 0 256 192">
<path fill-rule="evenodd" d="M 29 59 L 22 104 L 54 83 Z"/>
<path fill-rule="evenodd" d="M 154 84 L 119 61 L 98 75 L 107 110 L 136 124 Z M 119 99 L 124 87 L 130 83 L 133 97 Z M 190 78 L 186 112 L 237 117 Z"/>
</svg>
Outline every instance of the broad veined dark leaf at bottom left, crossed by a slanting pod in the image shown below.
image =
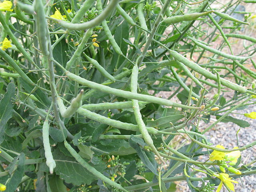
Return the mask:
<svg viewBox="0 0 256 192">
<path fill-rule="evenodd" d="M 96 176 L 91 174 L 80 163 L 76 162 L 74 158 L 65 156 L 58 148 L 54 150 L 52 155 L 56 161 L 55 172 L 66 183 L 90 185 L 94 180 L 98 180 Z M 103 172 L 105 169 L 105 163 L 103 161 L 100 161 L 97 165 L 91 164 L 91 166 L 99 172 Z"/>
</svg>

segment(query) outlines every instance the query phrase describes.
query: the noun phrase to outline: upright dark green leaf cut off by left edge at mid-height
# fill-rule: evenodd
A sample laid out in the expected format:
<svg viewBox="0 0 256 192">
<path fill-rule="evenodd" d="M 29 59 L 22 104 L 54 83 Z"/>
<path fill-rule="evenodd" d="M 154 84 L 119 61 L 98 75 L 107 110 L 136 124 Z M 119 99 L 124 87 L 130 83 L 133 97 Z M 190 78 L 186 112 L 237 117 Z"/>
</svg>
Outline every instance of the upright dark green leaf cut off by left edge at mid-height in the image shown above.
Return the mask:
<svg viewBox="0 0 256 192">
<path fill-rule="evenodd" d="M 0 134 L 4 135 L 7 128 L 7 122 L 12 118 L 13 105 L 12 100 L 15 98 L 15 85 L 9 83 L 7 86 L 6 94 L 0 101 Z"/>
</svg>

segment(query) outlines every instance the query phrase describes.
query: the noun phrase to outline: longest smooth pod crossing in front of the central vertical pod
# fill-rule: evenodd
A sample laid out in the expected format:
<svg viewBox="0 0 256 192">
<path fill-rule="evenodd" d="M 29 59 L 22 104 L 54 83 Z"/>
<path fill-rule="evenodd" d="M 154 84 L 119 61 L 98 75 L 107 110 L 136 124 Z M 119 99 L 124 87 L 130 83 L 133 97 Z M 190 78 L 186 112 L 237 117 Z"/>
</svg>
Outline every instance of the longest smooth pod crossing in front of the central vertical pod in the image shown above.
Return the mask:
<svg viewBox="0 0 256 192">
<path fill-rule="evenodd" d="M 150 96 L 150 95 L 144 95 L 144 94 L 138 94 L 138 93 L 131 93 L 129 91 L 124 91 L 124 90 L 119 90 L 119 89 L 115 89 L 115 88 L 111 88 L 102 84 L 98 84 L 92 81 L 88 81 L 84 78 L 81 78 L 80 76 L 77 76 L 75 74 L 72 74 L 70 72 L 66 72 L 66 76 L 70 79 L 70 80 L 74 80 L 76 82 L 79 82 L 80 84 L 84 85 L 84 86 L 88 86 L 90 88 L 94 88 L 94 89 L 98 89 L 101 90 L 103 92 L 109 93 L 109 94 L 114 94 L 116 96 L 120 96 L 123 98 L 127 98 L 127 99 L 136 99 L 136 100 L 140 100 L 140 101 L 146 101 L 146 102 L 152 102 L 152 103 L 157 103 L 157 104 L 161 104 L 161 105 L 165 105 L 165 106 L 174 106 L 174 107 L 181 107 L 181 108 L 190 108 L 190 109 L 197 109 L 196 107 L 192 107 L 192 106 L 186 106 L 183 104 L 178 104 L 175 102 L 172 102 L 170 100 L 167 99 L 162 99 L 162 98 L 158 98 L 158 97 L 154 97 L 154 96 Z"/>
</svg>

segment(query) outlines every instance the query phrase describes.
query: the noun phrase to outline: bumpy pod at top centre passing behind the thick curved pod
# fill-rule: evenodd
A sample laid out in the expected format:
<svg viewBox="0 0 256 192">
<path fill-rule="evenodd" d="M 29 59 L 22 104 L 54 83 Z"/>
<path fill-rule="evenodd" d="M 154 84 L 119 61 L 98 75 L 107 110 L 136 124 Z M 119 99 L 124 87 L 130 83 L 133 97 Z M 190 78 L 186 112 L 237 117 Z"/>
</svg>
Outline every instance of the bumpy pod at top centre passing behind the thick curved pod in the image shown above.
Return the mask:
<svg viewBox="0 0 256 192">
<path fill-rule="evenodd" d="M 101 0 L 97 0 L 97 9 L 102 11 L 102 2 L 101 2 Z M 114 39 L 114 37 L 111 34 L 110 29 L 108 28 L 108 24 L 107 24 L 105 19 L 102 21 L 102 27 L 104 29 L 104 32 L 105 32 L 106 36 L 108 37 L 109 42 L 112 44 L 113 49 L 116 51 L 117 54 L 123 55 L 120 47 L 116 43 L 116 40 Z"/>
</svg>

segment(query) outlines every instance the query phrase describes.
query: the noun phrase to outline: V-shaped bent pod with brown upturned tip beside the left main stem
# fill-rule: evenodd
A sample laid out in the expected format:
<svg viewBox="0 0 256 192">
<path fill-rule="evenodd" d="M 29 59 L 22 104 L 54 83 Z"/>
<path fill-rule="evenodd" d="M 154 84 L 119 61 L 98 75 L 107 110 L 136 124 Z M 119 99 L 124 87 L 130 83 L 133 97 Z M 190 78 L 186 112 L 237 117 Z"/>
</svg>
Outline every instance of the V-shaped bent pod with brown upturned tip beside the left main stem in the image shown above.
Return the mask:
<svg viewBox="0 0 256 192">
<path fill-rule="evenodd" d="M 84 90 L 81 90 L 80 93 L 71 101 L 70 106 L 66 109 L 66 107 L 63 104 L 62 99 L 57 98 L 57 103 L 60 108 L 60 114 L 64 118 L 68 118 L 72 116 L 80 106 L 82 106 L 82 95 Z M 64 106 L 64 107 L 63 107 Z"/>
</svg>

